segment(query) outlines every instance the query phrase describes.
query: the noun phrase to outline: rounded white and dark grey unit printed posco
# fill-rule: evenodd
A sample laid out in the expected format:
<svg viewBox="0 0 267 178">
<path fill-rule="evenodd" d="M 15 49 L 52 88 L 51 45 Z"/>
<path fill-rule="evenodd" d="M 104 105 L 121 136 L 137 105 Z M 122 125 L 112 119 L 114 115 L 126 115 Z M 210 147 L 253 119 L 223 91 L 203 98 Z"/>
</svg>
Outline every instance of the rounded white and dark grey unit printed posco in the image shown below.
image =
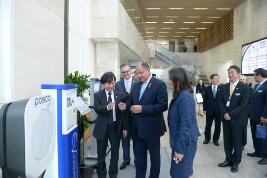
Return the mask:
<svg viewBox="0 0 267 178">
<path fill-rule="evenodd" d="M 55 152 L 55 113 L 49 94 L 0 108 L 2 178 L 43 178 Z"/>
</svg>

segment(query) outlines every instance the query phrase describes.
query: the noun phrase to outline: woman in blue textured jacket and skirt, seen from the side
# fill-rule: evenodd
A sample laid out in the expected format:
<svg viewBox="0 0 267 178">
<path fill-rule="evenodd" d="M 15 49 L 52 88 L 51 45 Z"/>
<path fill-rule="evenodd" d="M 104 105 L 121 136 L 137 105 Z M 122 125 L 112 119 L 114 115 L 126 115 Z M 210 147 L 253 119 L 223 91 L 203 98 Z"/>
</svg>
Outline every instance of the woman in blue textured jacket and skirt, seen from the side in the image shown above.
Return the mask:
<svg viewBox="0 0 267 178">
<path fill-rule="evenodd" d="M 186 71 L 180 67 L 169 71 L 168 84 L 174 90 L 169 106 L 168 124 L 172 148 L 171 177 L 189 178 L 193 175 L 193 160 L 200 136 L 193 89 Z M 175 160 L 174 160 L 175 159 Z"/>
</svg>

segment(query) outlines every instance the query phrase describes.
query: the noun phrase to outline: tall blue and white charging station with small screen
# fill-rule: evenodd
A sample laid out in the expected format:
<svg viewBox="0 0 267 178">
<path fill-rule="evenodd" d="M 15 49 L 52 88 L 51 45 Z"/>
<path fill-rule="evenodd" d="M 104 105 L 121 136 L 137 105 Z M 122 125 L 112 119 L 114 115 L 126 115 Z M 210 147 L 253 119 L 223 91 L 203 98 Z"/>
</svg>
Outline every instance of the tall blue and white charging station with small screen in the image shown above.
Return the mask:
<svg viewBox="0 0 267 178">
<path fill-rule="evenodd" d="M 42 85 L 42 94 L 50 94 L 56 107 L 56 145 L 54 158 L 44 178 L 78 178 L 78 126 L 76 84 Z"/>
</svg>

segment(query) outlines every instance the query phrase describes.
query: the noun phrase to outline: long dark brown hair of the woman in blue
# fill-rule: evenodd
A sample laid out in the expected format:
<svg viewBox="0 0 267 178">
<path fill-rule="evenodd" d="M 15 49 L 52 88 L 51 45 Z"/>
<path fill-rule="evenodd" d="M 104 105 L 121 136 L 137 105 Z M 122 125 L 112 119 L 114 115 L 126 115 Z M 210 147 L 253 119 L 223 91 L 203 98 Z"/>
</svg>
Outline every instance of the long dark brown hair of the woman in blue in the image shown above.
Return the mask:
<svg viewBox="0 0 267 178">
<path fill-rule="evenodd" d="M 174 85 L 173 97 L 175 97 L 176 94 L 179 94 L 184 89 L 188 89 L 191 93 L 194 92 L 188 80 L 186 71 L 183 68 L 178 67 L 178 68 L 169 70 L 169 76 Z M 178 89 L 177 83 L 180 84 L 179 89 Z"/>
</svg>

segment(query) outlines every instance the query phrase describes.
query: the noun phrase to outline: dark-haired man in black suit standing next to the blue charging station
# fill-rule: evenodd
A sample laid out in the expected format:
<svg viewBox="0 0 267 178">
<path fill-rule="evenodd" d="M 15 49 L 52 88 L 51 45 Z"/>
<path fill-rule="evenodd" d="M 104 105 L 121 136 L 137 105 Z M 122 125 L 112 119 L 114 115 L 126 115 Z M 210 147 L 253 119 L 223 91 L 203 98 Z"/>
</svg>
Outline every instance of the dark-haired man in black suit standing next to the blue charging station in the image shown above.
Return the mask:
<svg viewBox="0 0 267 178">
<path fill-rule="evenodd" d="M 94 110 L 98 114 L 95 123 L 93 136 L 96 138 L 97 144 L 97 161 L 100 161 L 106 154 L 108 140 L 114 145 L 111 150 L 111 159 L 109 165 L 109 177 L 116 178 L 118 175 L 119 149 L 122 137 L 127 136 L 128 121 L 127 113 L 124 114 L 122 126 L 119 127 L 122 112 L 118 107 L 118 103 L 122 101 L 123 93 L 114 89 L 116 77 L 112 72 L 106 72 L 100 79 L 105 89 L 95 92 Z M 117 131 L 119 132 L 116 137 Z M 107 169 L 105 160 L 97 165 L 97 177 L 106 178 Z"/>
</svg>

